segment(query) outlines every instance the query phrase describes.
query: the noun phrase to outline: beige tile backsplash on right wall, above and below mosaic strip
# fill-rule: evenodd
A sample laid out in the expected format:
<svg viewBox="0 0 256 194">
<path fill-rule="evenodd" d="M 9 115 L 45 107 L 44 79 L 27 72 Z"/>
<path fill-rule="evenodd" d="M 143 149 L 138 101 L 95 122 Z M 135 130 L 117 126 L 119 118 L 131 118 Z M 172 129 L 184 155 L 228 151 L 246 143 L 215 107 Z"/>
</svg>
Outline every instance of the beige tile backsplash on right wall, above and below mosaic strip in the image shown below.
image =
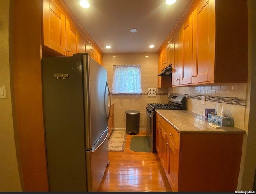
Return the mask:
<svg viewBox="0 0 256 194">
<path fill-rule="evenodd" d="M 168 89 L 168 92 L 202 96 L 236 97 L 245 100 L 246 85 L 246 83 L 212 83 L 198 86 L 172 87 Z M 244 129 L 245 107 L 225 103 L 221 103 L 221 105 L 224 116 L 234 118 L 234 126 Z M 205 105 L 203 105 L 200 100 L 188 99 L 187 109 L 189 111 L 204 115 L 206 108 L 214 108 L 218 112 L 218 103 L 206 101 Z"/>
</svg>

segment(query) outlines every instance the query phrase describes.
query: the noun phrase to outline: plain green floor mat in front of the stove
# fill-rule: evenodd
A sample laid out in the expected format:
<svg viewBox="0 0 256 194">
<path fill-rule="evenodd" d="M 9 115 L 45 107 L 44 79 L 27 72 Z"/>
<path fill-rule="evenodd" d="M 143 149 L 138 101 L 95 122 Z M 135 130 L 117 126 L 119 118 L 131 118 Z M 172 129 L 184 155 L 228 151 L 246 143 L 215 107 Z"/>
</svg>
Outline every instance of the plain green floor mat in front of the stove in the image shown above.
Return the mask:
<svg viewBox="0 0 256 194">
<path fill-rule="evenodd" d="M 133 136 L 131 139 L 130 150 L 134 152 L 151 152 L 147 136 Z"/>
</svg>

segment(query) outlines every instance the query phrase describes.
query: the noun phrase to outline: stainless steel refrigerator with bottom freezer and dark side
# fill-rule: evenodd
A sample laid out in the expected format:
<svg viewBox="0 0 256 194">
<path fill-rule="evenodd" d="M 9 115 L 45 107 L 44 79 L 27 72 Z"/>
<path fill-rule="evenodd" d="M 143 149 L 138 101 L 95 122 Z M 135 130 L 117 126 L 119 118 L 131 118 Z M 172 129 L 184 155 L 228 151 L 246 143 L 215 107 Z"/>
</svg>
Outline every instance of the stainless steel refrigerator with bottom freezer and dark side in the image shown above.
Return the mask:
<svg viewBox="0 0 256 194">
<path fill-rule="evenodd" d="M 42 57 L 42 84 L 50 191 L 98 191 L 109 162 L 106 69 L 88 53 Z"/>
</svg>

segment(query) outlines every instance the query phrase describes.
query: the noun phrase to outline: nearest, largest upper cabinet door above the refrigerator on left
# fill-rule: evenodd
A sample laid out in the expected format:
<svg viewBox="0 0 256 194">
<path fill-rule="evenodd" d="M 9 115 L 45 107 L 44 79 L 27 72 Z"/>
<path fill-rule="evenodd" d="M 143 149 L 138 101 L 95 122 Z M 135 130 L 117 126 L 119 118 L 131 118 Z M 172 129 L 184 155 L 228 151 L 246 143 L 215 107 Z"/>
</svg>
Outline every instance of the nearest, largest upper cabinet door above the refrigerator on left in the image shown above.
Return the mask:
<svg viewBox="0 0 256 194">
<path fill-rule="evenodd" d="M 66 18 L 51 0 L 43 7 L 43 44 L 66 56 Z"/>
</svg>

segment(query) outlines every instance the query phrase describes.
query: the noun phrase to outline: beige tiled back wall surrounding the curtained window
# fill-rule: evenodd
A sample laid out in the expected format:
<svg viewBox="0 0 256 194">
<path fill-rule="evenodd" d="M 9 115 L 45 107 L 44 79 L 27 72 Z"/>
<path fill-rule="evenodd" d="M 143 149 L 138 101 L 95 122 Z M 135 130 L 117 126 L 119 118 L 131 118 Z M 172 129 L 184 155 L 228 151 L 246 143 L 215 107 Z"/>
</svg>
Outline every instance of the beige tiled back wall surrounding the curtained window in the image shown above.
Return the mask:
<svg viewBox="0 0 256 194">
<path fill-rule="evenodd" d="M 113 56 L 116 56 L 113 58 Z M 145 56 L 148 56 L 147 58 Z M 157 53 L 115 53 L 103 55 L 104 67 L 108 71 L 110 89 L 113 82 L 113 65 L 141 65 L 142 93 L 148 88 L 156 88 L 157 93 L 167 93 L 167 89 L 157 89 L 158 54 Z M 146 129 L 146 103 L 167 103 L 167 95 L 148 97 L 147 95 L 112 95 L 114 103 L 114 129 L 126 129 L 126 110 L 140 111 L 140 130 Z"/>
</svg>

